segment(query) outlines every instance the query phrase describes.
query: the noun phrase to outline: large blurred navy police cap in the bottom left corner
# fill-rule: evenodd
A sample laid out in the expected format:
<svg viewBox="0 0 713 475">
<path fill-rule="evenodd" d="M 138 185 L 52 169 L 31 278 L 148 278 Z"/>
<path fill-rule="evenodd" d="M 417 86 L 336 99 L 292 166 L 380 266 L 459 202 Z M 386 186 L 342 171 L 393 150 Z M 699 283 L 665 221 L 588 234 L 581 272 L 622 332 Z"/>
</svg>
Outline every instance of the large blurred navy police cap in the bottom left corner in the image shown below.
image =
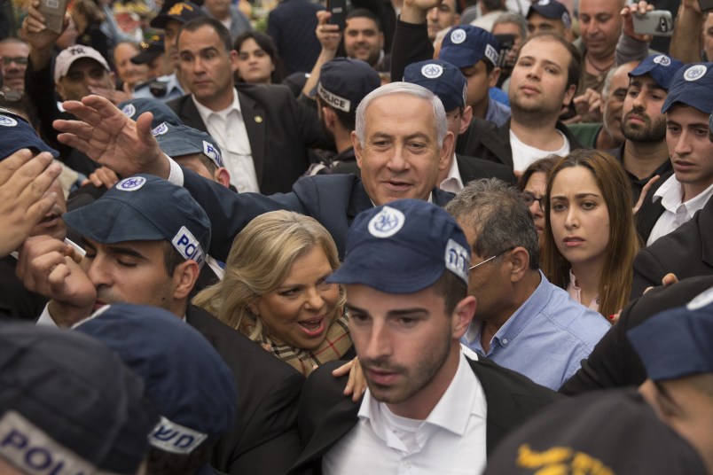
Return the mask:
<svg viewBox="0 0 713 475">
<path fill-rule="evenodd" d="M 0 459 L 21 473 L 137 473 L 159 415 L 108 347 L 27 323 L 0 330 Z"/>
</svg>

